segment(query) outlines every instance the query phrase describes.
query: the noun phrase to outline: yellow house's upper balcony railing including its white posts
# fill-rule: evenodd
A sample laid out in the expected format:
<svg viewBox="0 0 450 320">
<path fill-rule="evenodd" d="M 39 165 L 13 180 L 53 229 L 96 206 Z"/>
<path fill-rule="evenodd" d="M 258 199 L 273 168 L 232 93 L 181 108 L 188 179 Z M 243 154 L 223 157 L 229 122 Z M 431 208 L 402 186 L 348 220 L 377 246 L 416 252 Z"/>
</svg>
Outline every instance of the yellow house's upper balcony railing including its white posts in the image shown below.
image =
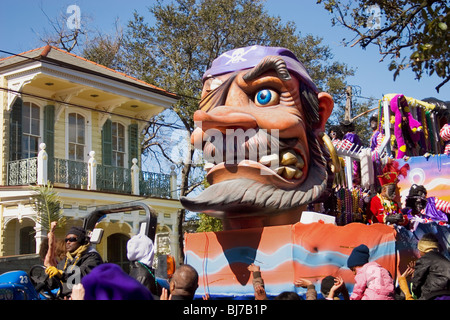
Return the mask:
<svg viewBox="0 0 450 320">
<path fill-rule="evenodd" d="M 88 162 L 48 158 L 45 144 L 34 158 L 7 162 L 7 185 L 43 185 L 97 190 L 166 199 L 177 199 L 176 174 L 141 171 L 137 160 L 131 168 L 97 164 L 91 151 Z"/>
</svg>

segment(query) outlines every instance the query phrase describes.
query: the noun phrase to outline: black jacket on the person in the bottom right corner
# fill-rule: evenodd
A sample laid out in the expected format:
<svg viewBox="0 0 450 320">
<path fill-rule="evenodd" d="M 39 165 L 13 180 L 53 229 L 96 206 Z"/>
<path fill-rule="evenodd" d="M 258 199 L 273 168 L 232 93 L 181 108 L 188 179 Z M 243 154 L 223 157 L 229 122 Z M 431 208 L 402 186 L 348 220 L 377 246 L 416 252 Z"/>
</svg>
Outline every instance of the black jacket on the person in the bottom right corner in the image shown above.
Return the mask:
<svg viewBox="0 0 450 320">
<path fill-rule="evenodd" d="M 420 300 L 450 295 L 450 261 L 437 251 L 425 253 L 416 262 L 411 289 Z"/>
</svg>

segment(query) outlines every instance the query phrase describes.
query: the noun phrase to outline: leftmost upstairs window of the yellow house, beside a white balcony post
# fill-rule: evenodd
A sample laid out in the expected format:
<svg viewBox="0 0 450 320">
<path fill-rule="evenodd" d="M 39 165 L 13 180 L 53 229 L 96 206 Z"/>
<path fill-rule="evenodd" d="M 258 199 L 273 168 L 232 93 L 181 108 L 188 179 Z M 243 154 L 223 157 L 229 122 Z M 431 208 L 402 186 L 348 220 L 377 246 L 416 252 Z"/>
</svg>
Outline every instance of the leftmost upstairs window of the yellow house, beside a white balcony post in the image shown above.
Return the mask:
<svg viewBox="0 0 450 320">
<path fill-rule="evenodd" d="M 40 108 L 31 102 L 22 105 L 22 158 L 37 157 L 40 139 Z"/>
</svg>

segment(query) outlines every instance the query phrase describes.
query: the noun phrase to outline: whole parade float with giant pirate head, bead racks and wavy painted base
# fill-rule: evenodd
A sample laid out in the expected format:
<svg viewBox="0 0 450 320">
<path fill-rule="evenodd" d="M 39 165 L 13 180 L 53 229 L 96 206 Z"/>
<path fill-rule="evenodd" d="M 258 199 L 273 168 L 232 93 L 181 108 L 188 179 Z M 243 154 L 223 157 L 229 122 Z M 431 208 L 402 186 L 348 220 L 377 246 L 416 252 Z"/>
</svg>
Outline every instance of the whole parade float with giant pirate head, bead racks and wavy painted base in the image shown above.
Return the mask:
<svg viewBox="0 0 450 320">
<path fill-rule="evenodd" d="M 346 262 L 354 247 L 366 244 L 370 259 L 396 279 L 418 257 L 417 241 L 427 232 L 438 235 L 448 255 L 446 221 L 423 218 L 406 227 L 370 224 L 366 216 L 392 162 L 408 168 L 395 180 L 403 201 L 413 184 L 450 201 L 445 105 L 385 95 L 373 148 L 331 141 L 325 123 L 332 109 L 331 96 L 287 49 L 231 50 L 205 72 L 191 142 L 203 151 L 210 186 L 181 203 L 222 219 L 224 231 L 185 235 L 185 263 L 199 273 L 197 296 L 253 299 L 252 263 L 269 298 L 303 295 L 306 289 L 294 286 L 298 278 L 320 292 L 328 275 L 342 276 L 351 292 Z"/>
</svg>

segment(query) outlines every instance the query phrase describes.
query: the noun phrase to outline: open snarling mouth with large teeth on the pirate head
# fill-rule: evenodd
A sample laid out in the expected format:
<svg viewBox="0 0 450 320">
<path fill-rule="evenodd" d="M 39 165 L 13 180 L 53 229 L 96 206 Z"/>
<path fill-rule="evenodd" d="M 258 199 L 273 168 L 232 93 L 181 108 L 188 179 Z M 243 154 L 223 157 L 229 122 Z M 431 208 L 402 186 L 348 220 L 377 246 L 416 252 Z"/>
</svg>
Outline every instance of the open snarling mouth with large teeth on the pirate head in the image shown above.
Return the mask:
<svg viewBox="0 0 450 320">
<path fill-rule="evenodd" d="M 291 189 L 306 178 L 308 153 L 299 139 L 278 139 L 256 130 L 245 139 L 231 140 L 215 137 L 204 143 L 209 183 L 245 177 Z"/>
</svg>

